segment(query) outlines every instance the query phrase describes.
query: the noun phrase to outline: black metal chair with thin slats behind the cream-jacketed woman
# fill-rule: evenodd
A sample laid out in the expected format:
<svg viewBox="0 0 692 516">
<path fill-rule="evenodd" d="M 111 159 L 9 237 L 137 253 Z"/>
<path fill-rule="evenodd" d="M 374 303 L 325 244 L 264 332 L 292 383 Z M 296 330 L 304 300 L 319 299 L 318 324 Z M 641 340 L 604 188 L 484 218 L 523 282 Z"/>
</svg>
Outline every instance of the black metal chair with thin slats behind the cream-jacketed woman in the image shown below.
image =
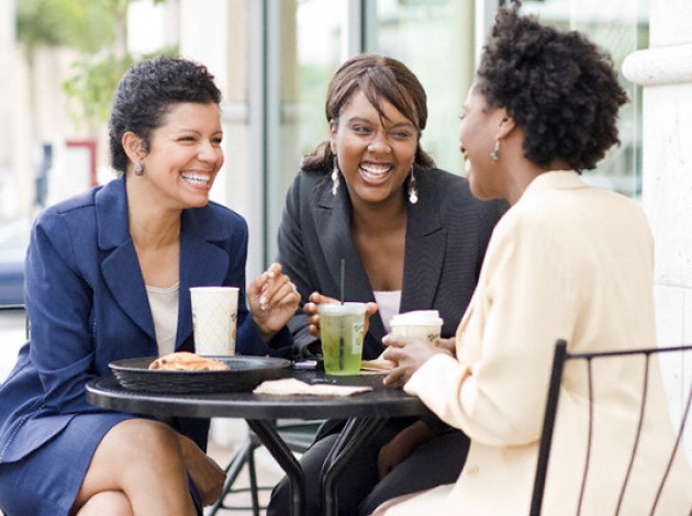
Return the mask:
<svg viewBox="0 0 692 516">
<path fill-rule="evenodd" d="M 560 384 L 561 384 L 561 380 L 562 380 L 562 372 L 565 370 L 565 362 L 567 362 L 568 360 L 585 360 L 588 363 L 588 374 L 589 374 L 589 381 L 590 381 L 590 388 L 589 388 L 589 403 L 590 405 L 593 405 L 593 390 L 591 389 L 591 374 L 592 374 L 592 361 L 596 360 L 596 359 L 606 359 L 606 358 L 613 358 L 613 357 L 624 357 L 624 356 L 633 356 L 633 355 L 640 355 L 645 357 L 645 374 L 644 380 L 643 380 L 643 385 L 641 385 L 641 404 L 639 407 L 639 419 L 638 419 L 638 426 L 637 426 L 637 434 L 636 434 L 636 441 L 635 441 L 635 446 L 633 447 L 632 450 L 632 456 L 629 458 L 629 463 L 628 463 L 628 469 L 627 469 L 627 474 L 625 475 L 625 480 L 623 482 L 623 485 L 621 487 L 621 493 L 620 493 L 620 501 L 622 502 L 624 493 L 625 493 L 625 489 L 627 486 L 627 480 L 629 478 L 629 472 L 632 471 L 633 464 L 634 464 L 634 460 L 635 460 L 635 456 L 637 452 L 637 444 L 639 441 L 639 437 L 640 437 L 640 429 L 641 429 L 641 423 L 644 420 L 644 416 L 645 416 L 645 410 L 646 410 L 646 399 L 647 399 L 647 389 L 648 389 L 648 367 L 649 367 L 649 360 L 652 356 L 658 356 L 659 354 L 670 354 L 670 352 L 683 352 L 683 351 L 692 351 L 692 346 L 674 346 L 674 347 L 660 347 L 660 348 L 645 348 L 645 349 L 632 349 L 632 350 L 620 350 L 620 351 L 604 351 L 604 352 L 590 352 L 590 354 L 570 354 L 567 351 L 567 341 L 560 339 L 557 341 L 556 344 L 556 348 L 555 348 L 555 356 L 554 356 L 554 360 L 553 360 L 553 371 L 551 371 L 551 375 L 550 375 L 550 383 L 549 383 L 549 388 L 548 388 L 548 400 L 546 403 L 546 411 L 545 411 L 545 417 L 544 417 L 544 426 L 543 426 L 543 434 L 542 434 L 542 438 L 540 438 L 540 445 L 539 445 L 539 451 L 538 451 L 538 461 L 537 461 L 537 465 L 536 465 L 536 476 L 534 480 L 534 491 L 533 491 L 533 497 L 532 497 L 532 505 L 531 505 L 531 516 L 540 516 L 540 511 L 542 511 L 542 506 L 543 506 L 543 497 L 544 497 L 544 491 L 545 491 L 545 483 L 546 483 L 546 476 L 547 476 L 547 470 L 548 470 L 548 461 L 550 458 L 550 445 L 553 442 L 553 433 L 555 429 L 555 420 L 556 420 L 556 414 L 557 414 L 557 407 L 558 407 L 558 397 L 559 397 L 559 393 L 560 393 Z M 691 386 L 692 389 L 692 386 Z M 660 484 L 658 487 L 658 495 L 656 497 L 656 500 L 652 502 L 654 503 L 654 507 L 651 508 L 651 514 L 654 514 L 654 511 L 656 508 L 656 504 L 658 502 L 658 496 L 660 496 L 660 493 L 663 489 L 663 484 L 666 483 L 667 479 L 668 479 L 668 473 L 670 471 L 670 468 L 672 465 L 673 462 L 673 457 L 676 455 L 676 452 L 678 451 L 678 448 L 680 446 L 680 442 L 682 440 L 683 437 L 683 433 L 685 429 L 685 424 L 687 424 L 687 419 L 688 419 L 688 414 L 690 412 L 690 404 L 692 402 L 692 390 L 690 390 L 690 392 L 688 393 L 687 400 L 684 400 L 684 408 L 683 408 L 683 414 L 681 416 L 681 420 L 680 420 L 680 425 L 679 425 L 679 429 L 678 429 L 678 436 L 677 436 L 677 441 L 676 441 L 676 446 L 673 448 L 673 450 L 671 451 L 670 455 L 670 459 L 668 462 L 668 469 L 666 470 L 666 473 L 663 474 L 663 476 L 660 479 Z M 591 451 L 591 437 L 592 437 L 592 425 L 593 425 L 593 414 L 589 415 L 589 436 L 588 436 L 588 450 L 587 450 L 587 460 L 585 460 L 585 464 L 584 464 L 584 471 L 582 474 L 582 484 L 581 484 L 581 495 L 579 498 L 579 502 L 581 504 L 582 501 L 582 496 L 584 493 L 584 487 L 587 484 L 587 473 L 588 473 L 588 469 L 589 469 L 589 452 Z M 581 506 L 579 506 L 577 508 L 578 513 L 580 514 L 581 511 Z M 644 513 L 644 507 L 643 507 L 643 513 Z M 692 513 L 691 513 L 692 514 Z"/>
</svg>

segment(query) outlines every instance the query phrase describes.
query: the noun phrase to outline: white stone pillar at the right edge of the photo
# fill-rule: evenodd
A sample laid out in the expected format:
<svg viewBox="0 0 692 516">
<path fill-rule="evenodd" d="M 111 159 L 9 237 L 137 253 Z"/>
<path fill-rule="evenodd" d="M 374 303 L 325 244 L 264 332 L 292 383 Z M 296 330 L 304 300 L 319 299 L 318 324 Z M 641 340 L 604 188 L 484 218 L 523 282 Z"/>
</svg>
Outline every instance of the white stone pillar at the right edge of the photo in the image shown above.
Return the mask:
<svg viewBox="0 0 692 516">
<path fill-rule="evenodd" d="M 649 15 L 649 48 L 627 56 L 623 74 L 643 87 L 643 202 L 656 239 L 658 340 L 676 346 L 692 343 L 692 3 L 651 0 Z M 677 420 L 692 357 L 663 366 Z"/>
</svg>

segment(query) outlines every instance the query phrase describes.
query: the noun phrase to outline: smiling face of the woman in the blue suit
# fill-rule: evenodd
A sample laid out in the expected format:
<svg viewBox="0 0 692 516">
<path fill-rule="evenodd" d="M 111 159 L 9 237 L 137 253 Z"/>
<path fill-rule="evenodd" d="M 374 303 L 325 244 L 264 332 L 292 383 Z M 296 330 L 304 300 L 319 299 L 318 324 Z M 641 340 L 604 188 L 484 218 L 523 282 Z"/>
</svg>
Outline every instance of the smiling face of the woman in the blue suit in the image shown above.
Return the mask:
<svg viewBox="0 0 692 516">
<path fill-rule="evenodd" d="M 154 130 L 142 159 L 153 202 L 163 207 L 200 207 L 223 165 L 221 115 L 216 104 L 172 104 Z"/>
</svg>

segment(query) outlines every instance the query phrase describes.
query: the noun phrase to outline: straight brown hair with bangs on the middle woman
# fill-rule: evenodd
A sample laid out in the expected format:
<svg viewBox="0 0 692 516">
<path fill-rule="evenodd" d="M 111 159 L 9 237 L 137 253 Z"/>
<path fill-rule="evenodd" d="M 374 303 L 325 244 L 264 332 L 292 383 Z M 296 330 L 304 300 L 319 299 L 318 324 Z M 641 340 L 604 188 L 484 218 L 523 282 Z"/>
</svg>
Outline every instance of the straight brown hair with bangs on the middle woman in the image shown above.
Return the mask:
<svg viewBox="0 0 692 516">
<path fill-rule="evenodd" d="M 421 133 L 427 123 L 427 96 L 417 77 L 401 61 L 378 54 L 358 54 L 336 70 L 327 89 L 325 115 L 327 122 L 338 124 L 342 109 L 356 91 L 361 91 L 381 117 L 382 102 L 387 101 L 409 119 L 418 132 L 414 162 L 425 168 L 435 166 L 421 148 Z M 332 167 L 330 143 L 322 142 L 303 158 L 304 170 L 327 170 Z"/>
</svg>

